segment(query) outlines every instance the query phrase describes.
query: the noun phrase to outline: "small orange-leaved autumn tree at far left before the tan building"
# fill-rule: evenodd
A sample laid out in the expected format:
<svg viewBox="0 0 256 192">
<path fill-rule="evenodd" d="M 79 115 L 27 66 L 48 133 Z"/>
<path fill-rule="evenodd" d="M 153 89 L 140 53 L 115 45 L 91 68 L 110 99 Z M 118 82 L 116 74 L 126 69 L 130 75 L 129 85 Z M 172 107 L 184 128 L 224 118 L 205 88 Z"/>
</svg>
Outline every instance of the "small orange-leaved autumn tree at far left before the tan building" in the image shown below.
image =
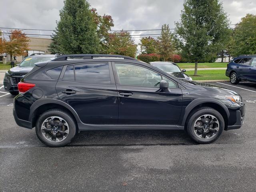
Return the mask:
<svg viewBox="0 0 256 192">
<path fill-rule="evenodd" d="M 9 41 L 6 41 L 6 52 L 12 56 L 25 56 L 29 49 L 29 38 L 22 33 L 22 30 L 12 30 L 9 36 Z"/>
</svg>

